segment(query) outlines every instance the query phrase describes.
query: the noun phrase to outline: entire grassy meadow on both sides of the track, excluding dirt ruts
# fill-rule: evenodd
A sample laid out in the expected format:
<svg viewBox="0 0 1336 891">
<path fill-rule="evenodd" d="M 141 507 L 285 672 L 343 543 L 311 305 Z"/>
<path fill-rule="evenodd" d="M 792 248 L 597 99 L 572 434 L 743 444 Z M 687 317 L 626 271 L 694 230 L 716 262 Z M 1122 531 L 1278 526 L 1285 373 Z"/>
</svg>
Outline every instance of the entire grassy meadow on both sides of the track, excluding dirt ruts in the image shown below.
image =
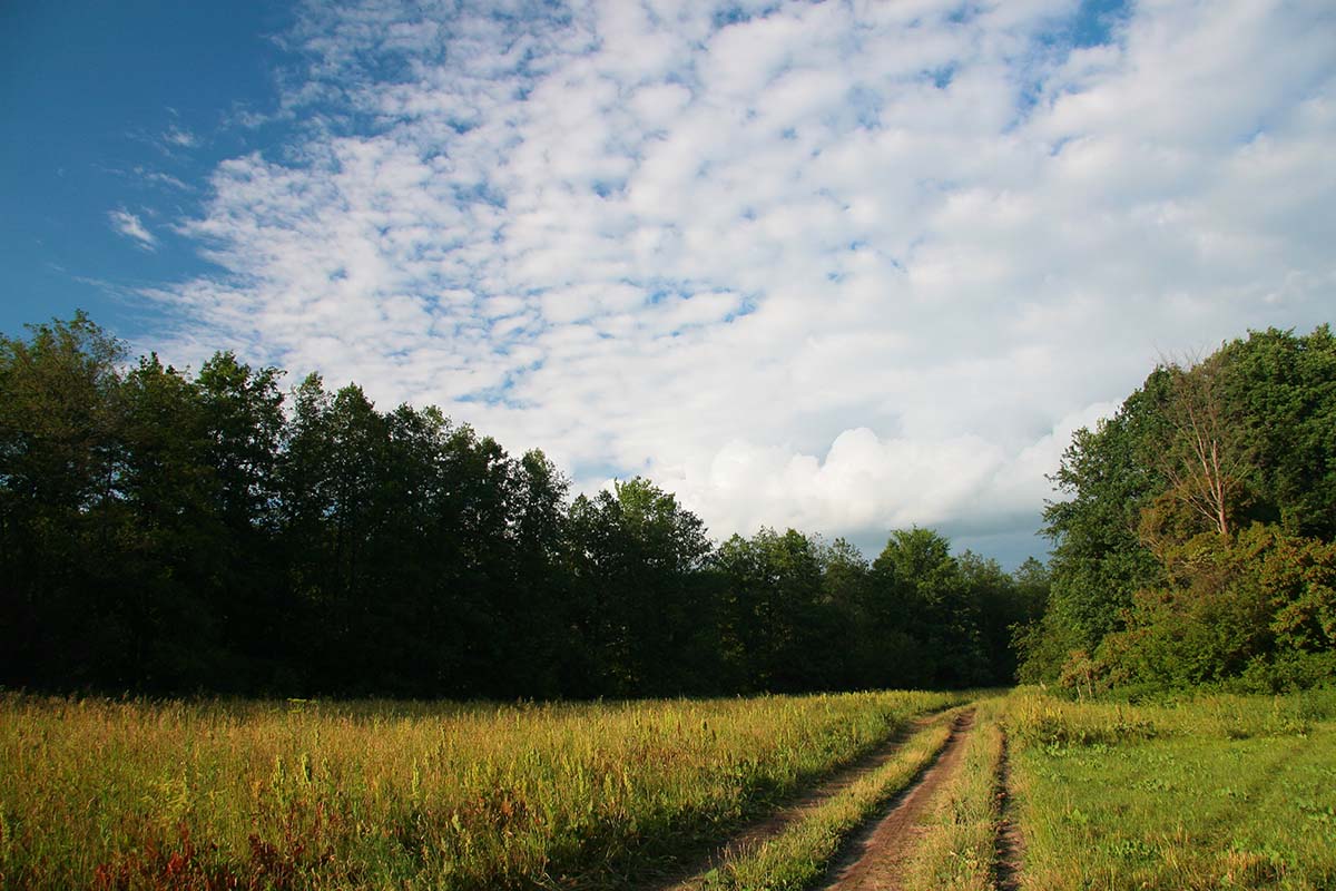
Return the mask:
<svg viewBox="0 0 1336 891">
<path fill-rule="evenodd" d="M 1128 705 L 1033 689 L 508 707 L 11 695 L 0 887 L 648 887 L 966 701 L 973 728 L 904 887 L 1336 888 L 1336 691 Z M 954 713 L 709 887 L 812 887 Z M 1014 875 L 1003 820 L 1023 838 Z"/>
</svg>

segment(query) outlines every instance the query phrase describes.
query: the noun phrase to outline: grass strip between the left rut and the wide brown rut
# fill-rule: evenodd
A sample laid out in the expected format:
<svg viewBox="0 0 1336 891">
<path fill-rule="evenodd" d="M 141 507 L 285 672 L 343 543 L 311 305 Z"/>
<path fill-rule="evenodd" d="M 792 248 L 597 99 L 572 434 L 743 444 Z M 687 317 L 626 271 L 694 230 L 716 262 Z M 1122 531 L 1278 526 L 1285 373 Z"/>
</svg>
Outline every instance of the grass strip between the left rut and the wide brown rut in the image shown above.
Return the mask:
<svg viewBox="0 0 1336 891">
<path fill-rule="evenodd" d="M 705 887 L 720 891 L 799 891 L 822 875 L 848 835 L 933 763 L 951 735 L 961 708 L 942 712 L 911 736 L 899 753 L 830 800 L 814 807 L 780 835 L 741 850 Z"/>
</svg>

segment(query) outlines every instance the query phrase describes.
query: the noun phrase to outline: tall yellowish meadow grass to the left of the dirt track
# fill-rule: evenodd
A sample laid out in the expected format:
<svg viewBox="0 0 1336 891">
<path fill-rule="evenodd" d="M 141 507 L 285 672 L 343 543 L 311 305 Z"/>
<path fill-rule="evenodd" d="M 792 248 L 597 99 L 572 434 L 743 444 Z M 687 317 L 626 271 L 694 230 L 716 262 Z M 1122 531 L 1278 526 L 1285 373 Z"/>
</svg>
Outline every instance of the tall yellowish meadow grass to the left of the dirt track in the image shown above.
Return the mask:
<svg viewBox="0 0 1336 891">
<path fill-rule="evenodd" d="M 619 887 L 961 701 L 0 697 L 0 886 Z"/>
</svg>

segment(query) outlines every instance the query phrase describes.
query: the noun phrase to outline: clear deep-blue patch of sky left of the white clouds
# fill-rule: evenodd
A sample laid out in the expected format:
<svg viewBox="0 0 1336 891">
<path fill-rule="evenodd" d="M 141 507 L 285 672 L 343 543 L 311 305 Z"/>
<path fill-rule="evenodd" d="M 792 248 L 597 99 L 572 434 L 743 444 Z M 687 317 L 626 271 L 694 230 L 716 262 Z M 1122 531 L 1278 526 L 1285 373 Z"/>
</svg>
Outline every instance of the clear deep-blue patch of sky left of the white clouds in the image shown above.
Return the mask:
<svg viewBox="0 0 1336 891">
<path fill-rule="evenodd" d="M 0 330 L 84 307 L 132 335 L 158 317 L 139 286 L 207 273 L 171 224 L 214 164 L 259 144 L 236 119 L 275 107 L 273 36 L 291 21 L 270 3 L 5 4 Z M 108 226 L 127 208 L 152 250 Z"/>
</svg>

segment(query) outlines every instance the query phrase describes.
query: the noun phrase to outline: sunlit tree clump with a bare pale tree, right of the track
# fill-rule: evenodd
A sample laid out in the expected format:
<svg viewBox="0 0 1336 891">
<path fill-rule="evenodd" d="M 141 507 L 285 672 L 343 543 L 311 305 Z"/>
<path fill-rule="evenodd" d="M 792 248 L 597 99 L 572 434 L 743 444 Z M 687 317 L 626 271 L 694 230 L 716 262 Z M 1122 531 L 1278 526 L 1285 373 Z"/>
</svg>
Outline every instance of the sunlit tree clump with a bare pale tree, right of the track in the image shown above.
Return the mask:
<svg viewBox="0 0 1336 891">
<path fill-rule="evenodd" d="M 1336 680 L 1336 341 L 1268 330 L 1165 362 L 1079 430 L 1047 506 L 1021 679 L 1082 692 Z"/>
</svg>

